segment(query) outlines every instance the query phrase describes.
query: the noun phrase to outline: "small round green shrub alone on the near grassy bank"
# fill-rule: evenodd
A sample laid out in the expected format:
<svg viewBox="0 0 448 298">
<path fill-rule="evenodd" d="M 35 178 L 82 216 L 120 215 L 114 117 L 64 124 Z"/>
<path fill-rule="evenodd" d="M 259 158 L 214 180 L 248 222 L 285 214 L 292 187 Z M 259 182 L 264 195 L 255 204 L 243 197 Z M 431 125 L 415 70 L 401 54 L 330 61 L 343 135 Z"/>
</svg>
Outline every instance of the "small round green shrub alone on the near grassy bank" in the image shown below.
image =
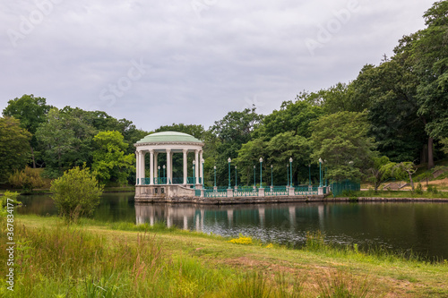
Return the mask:
<svg viewBox="0 0 448 298">
<path fill-rule="evenodd" d="M 99 205 L 103 186 L 88 167 L 74 167 L 51 183 L 50 192 L 59 214 L 70 224 L 79 217 L 91 216 Z"/>
</svg>

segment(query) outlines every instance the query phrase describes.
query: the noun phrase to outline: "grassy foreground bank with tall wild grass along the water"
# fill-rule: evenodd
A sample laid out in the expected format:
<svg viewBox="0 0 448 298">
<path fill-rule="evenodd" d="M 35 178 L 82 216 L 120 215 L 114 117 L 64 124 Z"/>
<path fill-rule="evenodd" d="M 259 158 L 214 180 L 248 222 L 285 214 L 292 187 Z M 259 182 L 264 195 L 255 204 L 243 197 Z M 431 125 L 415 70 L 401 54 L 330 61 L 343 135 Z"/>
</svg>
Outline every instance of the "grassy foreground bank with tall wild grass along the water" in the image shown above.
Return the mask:
<svg viewBox="0 0 448 298">
<path fill-rule="evenodd" d="M 289 250 L 164 226 L 18 216 L 11 297 L 446 297 L 448 263 L 333 249 Z M 2 229 L 6 226 L 2 220 Z M 0 256 L 7 259 L 2 242 Z"/>
</svg>

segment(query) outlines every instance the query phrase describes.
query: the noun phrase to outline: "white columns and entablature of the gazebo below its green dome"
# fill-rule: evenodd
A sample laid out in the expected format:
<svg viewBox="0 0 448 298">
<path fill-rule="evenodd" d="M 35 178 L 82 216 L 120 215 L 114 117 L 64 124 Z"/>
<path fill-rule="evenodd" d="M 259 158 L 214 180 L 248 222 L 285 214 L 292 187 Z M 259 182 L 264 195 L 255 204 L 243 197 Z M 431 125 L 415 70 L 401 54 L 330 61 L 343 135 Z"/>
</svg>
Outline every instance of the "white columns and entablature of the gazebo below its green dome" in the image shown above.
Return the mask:
<svg viewBox="0 0 448 298">
<path fill-rule="evenodd" d="M 161 134 L 163 132 L 159 132 Z M 180 132 L 178 133 L 180 134 Z M 185 134 L 185 133 L 183 133 Z M 154 134 L 155 135 L 155 134 Z M 186 136 L 189 136 L 185 134 Z M 151 136 L 151 135 L 150 135 Z M 194 139 L 193 136 L 189 136 Z M 144 140 L 144 139 L 142 139 Z M 194 139 L 196 140 L 196 139 Z M 136 163 L 136 185 L 142 185 L 144 183 L 145 178 L 145 156 L 149 153 L 150 155 L 150 185 L 155 184 L 155 181 L 159 183 L 158 177 L 158 156 L 159 153 L 167 154 L 167 184 L 173 183 L 173 154 L 174 153 L 183 153 L 184 160 L 184 180 L 183 184 L 188 184 L 187 181 L 187 173 L 188 173 L 188 165 L 187 165 L 187 154 L 190 152 L 194 152 L 194 184 L 199 185 L 199 180 L 203 181 L 202 173 L 203 173 L 203 163 L 202 163 L 202 147 L 204 143 L 201 141 L 157 141 L 157 142 L 142 142 L 139 141 L 134 144 L 136 151 L 135 157 L 137 159 Z"/>
</svg>

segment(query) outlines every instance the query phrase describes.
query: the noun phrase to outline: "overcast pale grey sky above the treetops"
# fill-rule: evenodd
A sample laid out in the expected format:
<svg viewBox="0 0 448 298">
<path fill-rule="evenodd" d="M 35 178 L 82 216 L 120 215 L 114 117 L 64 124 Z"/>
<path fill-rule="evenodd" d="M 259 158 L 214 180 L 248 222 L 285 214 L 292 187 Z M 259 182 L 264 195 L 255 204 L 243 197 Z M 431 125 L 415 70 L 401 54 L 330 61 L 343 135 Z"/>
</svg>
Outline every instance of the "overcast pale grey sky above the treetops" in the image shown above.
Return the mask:
<svg viewBox="0 0 448 298">
<path fill-rule="evenodd" d="M 433 0 L 0 0 L 0 109 L 23 94 L 152 131 L 268 115 L 357 78 Z"/>
</svg>

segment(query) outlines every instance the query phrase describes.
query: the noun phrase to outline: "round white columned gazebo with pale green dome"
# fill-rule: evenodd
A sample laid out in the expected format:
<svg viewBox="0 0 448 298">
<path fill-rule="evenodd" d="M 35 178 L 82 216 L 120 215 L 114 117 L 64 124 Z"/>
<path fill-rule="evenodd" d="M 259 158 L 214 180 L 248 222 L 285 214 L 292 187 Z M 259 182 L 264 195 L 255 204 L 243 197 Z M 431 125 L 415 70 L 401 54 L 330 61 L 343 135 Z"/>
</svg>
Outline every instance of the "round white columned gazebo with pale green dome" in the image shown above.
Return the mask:
<svg viewBox="0 0 448 298">
<path fill-rule="evenodd" d="M 136 166 L 136 185 L 173 185 L 181 184 L 185 187 L 194 185 L 200 188 L 203 184 L 203 159 L 201 140 L 183 132 L 156 132 L 137 141 L 135 157 Z M 188 178 L 188 153 L 194 152 L 194 179 Z M 183 154 L 183 179 L 173 179 L 173 154 Z M 166 177 L 159 177 L 159 154 L 166 154 Z M 145 158 L 150 158 L 150 175 L 146 176 Z M 163 165 L 165 166 L 165 165 Z M 164 167 L 165 168 L 165 167 Z"/>
</svg>

